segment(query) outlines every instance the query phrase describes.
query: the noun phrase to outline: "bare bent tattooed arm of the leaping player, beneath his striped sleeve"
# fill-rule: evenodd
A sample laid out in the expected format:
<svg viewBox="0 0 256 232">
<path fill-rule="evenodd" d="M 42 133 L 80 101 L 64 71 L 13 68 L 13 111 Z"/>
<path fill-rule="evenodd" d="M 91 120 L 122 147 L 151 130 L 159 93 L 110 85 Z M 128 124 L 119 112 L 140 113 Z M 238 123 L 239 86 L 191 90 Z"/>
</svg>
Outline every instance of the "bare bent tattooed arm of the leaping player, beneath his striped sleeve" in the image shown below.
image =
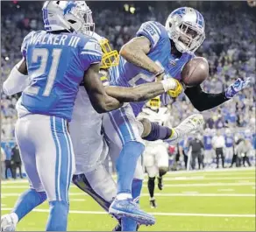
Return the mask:
<svg viewBox="0 0 256 232">
<path fill-rule="evenodd" d="M 142 67 L 152 74 L 161 74 L 164 70 L 146 55 L 150 49 L 150 40 L 145 36 L 140 36 L 126 43 L 121 48 L 120 55 L 128 62 Z"/>
</svg>

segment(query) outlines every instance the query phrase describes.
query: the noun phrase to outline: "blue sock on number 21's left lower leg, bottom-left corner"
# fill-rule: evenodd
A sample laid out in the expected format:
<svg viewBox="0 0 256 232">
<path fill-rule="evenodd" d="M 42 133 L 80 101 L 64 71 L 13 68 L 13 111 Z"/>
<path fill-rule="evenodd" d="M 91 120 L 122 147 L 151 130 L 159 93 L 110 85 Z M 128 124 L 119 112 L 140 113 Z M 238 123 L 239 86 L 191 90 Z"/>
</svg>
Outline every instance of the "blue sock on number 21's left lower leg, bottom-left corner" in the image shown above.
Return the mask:
<svg viewBox="0 0 256 232">
<path fill-rule="evenodd" d="M 46 198 L 46 192 L 37 192 L 34 189 L 28 189 L 19 196 L 11 213 L 17 214 L 18 221 L 20 221 L 33 208 L 42 204 Z"/>
</svg>

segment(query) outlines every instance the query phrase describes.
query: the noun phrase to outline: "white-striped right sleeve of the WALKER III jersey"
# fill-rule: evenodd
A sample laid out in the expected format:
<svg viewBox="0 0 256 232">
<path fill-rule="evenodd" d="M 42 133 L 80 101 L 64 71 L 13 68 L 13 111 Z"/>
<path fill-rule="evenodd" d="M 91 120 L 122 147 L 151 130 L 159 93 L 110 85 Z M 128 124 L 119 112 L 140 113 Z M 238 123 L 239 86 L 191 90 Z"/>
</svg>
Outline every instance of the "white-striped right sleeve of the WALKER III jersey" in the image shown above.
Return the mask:
<svg viewBox="0 0 256 232">
<path fill-rule="evenodd" d="M 102 61 L 103 52 L 102 48 L 96 39 L 91 38 L 83 44 L 80 51 L 80 58 L 82 61 L 82 67 L 87 70 L 92 64 L 97 64 Z"/>
</svg>

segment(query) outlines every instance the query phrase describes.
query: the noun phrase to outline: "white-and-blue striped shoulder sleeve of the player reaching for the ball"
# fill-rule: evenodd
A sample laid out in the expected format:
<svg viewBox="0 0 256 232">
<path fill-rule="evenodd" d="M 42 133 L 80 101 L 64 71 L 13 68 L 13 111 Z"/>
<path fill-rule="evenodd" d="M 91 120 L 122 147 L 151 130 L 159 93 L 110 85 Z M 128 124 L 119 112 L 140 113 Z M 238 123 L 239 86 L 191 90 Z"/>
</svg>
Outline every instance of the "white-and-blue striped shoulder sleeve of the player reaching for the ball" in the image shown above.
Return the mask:
<svg viewBox="0 0 256 232">
<path fill-rule="evenodd" d="M 142 24 L 136 36 L 145 36 L 151 43 L 151 50 L 158 44 L 161 37 L 160 25 L 156 22 L 148 21 Z"/>
</svg>

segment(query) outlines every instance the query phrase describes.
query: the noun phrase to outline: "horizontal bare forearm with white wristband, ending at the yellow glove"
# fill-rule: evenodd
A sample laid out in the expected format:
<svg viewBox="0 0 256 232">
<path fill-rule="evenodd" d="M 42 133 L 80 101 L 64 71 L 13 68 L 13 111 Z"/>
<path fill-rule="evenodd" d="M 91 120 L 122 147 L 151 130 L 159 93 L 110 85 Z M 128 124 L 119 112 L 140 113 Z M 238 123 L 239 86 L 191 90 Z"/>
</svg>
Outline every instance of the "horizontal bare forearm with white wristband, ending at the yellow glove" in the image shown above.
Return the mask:
<svg viewBox="0 0 256 232">
<path fill-rule="evenodd" d="M 176 85 L 176 81 L 170 78 L 159 82 L 141 84 L 133 88 L 108 86 L 105 87 L 105 90 L 108 95 L 117 98 L 120 102 L 143 102 L 168 90 L 175 89 Z"/>
</svg>

